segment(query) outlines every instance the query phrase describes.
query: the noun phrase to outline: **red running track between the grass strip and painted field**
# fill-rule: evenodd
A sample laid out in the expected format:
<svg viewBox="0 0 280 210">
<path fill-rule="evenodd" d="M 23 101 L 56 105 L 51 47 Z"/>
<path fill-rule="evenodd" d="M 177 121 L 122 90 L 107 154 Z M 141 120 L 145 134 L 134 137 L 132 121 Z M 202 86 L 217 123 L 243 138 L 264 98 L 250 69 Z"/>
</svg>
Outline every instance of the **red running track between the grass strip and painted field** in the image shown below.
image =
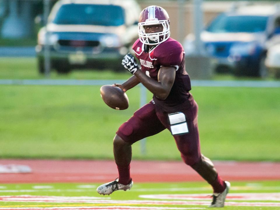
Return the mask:
<svg viewBox="0 0 280 210">
<path fill-rule="evenodd" d="M 213 162 L 224 180 L 280 180 L 280 162 Z M 114 161 L 0 159 L 0 165 L 6 164 L 28 165 L 32 172 L 2 173 L 1 183 L 108 182 L 118 177 Z M 203 181 L 191 167 L 179 161 L 133 160 L 131 176 L 136 182 Z"/>
</svg>

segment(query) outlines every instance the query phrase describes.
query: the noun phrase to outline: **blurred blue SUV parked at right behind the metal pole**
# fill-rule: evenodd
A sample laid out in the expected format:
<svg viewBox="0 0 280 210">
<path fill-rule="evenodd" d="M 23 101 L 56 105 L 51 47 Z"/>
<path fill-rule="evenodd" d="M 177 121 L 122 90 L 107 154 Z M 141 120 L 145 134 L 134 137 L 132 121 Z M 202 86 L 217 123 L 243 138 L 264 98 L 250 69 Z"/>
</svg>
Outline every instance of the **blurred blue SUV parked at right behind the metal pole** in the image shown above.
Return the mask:
<svg viewBox="0 0 280 210">
<path fill-rule="evenodd" d="M 216 72 L 265 77 L 266 42 L 272 37 L 276 5 L 248 5 L 221 13 L 202 31 L 205 52 L 218 60 Z M 193 35 L 185 39 L 186 55 L 192 54 Z"/>
</svg>

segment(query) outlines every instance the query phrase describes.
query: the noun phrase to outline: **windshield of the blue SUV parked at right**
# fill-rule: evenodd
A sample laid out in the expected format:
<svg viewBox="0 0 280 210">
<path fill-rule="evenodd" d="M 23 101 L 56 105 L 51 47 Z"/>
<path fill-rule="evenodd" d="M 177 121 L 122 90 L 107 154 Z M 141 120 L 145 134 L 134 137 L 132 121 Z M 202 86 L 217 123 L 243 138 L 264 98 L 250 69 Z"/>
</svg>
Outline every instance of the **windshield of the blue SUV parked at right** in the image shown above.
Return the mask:
<svg viewBox="0 0 280 210">
<path fill-rule="evenodd" d="M 213 33 L 261 32 L 265 31 L 267 20 L 267 16 L 222 14 L 211 22 L 206 31 Z"/>
</svg>

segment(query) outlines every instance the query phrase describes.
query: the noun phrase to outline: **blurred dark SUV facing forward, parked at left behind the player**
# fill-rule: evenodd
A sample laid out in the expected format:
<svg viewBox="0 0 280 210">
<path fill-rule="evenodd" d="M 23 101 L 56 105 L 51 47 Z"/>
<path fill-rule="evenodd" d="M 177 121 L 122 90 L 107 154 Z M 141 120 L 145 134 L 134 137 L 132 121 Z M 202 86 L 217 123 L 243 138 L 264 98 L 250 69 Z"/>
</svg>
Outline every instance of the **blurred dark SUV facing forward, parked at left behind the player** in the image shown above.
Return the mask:
<svg viewBox="0 0 280 210">
<path fill-rule="evenodd" d="M 138 38 L 139 5 L 134 0 L 60 0 L 38 32 L 38 70 L 44 73 L 46 37 L 50 63 L 59 73 L 73 68 L 118 70 Z M 47 33 L 48 31 L 48 33 Z"/>
</svg>

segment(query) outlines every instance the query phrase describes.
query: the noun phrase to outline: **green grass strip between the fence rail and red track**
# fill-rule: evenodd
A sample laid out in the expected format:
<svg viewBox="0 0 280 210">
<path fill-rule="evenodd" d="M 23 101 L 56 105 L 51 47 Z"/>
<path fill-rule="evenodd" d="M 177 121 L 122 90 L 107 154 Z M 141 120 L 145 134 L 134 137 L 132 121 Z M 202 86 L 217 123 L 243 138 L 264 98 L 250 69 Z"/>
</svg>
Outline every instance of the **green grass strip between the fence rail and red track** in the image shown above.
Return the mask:
<svg viewBox="0 0 280 210">
<path fill-rule="evenodd" d="M 99 86 L 0 86 L 0 158 L 113 159 L 115 131 L 139 108 L 140 88 L 127 110 L 109 108 Z M 191 91 L 199 104 L 202 153 L 216 160 L 279 161 L 279 88 Z M 151 94 L 148 94 L 148 99 Z M 155 149 L 156 148 L 156 149 Z M 180 160 L 168 131 L 140 142 L 134 159 Z"/>
</svg>

